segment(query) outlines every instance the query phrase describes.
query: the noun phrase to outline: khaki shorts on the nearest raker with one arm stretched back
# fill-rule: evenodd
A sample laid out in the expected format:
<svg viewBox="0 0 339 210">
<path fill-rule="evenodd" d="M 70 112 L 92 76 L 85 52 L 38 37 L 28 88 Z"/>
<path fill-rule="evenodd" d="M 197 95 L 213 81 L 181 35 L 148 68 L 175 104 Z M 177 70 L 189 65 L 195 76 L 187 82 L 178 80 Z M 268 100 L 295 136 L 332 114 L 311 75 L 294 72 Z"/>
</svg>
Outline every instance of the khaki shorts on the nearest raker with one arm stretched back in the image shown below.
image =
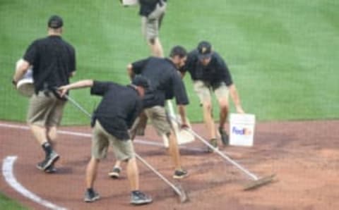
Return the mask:
<svg viewBox="0 0 339 210">
<path fill-rule="evenodd" d="M 109 143 L 112 144 L 115 158 L 119 161 L 126 161 L 134 157 L 134 149 L 131 140 L 118 140 L 110 135 L 99 121 L 95 121 L 92 137 L 92 156 L 95 159 L 104 159 L 107 156 Z"/>
</svg>

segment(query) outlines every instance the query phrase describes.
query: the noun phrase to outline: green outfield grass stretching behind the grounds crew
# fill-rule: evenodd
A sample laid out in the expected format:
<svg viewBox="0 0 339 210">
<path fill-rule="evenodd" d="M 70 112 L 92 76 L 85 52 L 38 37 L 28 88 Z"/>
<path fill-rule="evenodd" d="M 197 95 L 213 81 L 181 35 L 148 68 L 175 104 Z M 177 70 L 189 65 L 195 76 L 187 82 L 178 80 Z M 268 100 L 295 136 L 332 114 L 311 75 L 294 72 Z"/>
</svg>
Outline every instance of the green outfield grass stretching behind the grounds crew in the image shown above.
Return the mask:
<svg viewBox="0 0 339 210">
<path fill-rule="evenodd" d="M 191 50 L 202 39 L 210 40 L 230 67 L 245 111 L 260 121 L 339 118 L 338 7 L 334 0 L 169 1 L 160 36 L 166 54 L 175 44 Z M 11 87 L 13 65 L 33 39 L 44 37 L 54 13 L 64 18 L 64 38 L 77 50 L 73 81 L 125 84 L 126 64 L 149 54 L 137 8 L 118 1 L 2 0 L 1 119 L 25 120 L 28 100 Z M 201 121 L 189 77 L 185 83 L 189 118 Z M 99 101 L 88 90 L 71 96 L 88 110 Z M 63 124 L 84 123 L 88 119 L 67 106 Z"/>
</svg>

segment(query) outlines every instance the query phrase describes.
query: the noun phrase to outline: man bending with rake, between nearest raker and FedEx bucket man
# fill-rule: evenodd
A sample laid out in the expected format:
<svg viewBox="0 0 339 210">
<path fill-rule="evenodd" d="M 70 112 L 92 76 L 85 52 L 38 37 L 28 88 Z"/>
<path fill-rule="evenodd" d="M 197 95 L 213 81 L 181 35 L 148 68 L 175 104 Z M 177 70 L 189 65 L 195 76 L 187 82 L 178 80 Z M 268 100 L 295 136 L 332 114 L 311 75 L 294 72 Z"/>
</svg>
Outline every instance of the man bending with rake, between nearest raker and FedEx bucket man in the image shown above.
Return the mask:
<svg viewBox="0 0 339 210">
<path fill-rule="evenodd" d="M 189 104 L 189 99 L 184 82 L 182 82 L 177 71 L 180 67 L 184 66 L 185 61 L 186 49 L 177 46 L 173 47 L 169 58 L 150 57 L 131 63 L 127 67 L 131 78 L 136 75 L 143 75 L 143 77 L 150 81 L 151 91 L 145 93 L 143 109 L 155 130 L 157 130 L 158 135 L 166 135 L 169 139 L 169 152 L 175 168 L 173 178 L 176 179 L 186 177 L 187 171 L 182 169 L 177 137 L 174 134 L 169 116 L 167 116 L 165 111 L 165 100 L 175 97 L 182 119 L 182 126 L 187 126 L 185 106 Z M 131 130 L 132 133 L 138 128 L 138 123 L 145 125 L 144 122 L 140 122 L 137 119 Z M 112 173 L 109 173 L 112 178 L 119 177 L 121 171 L 119 165 L 120 163 L 117 161 Z"/>
</svg>

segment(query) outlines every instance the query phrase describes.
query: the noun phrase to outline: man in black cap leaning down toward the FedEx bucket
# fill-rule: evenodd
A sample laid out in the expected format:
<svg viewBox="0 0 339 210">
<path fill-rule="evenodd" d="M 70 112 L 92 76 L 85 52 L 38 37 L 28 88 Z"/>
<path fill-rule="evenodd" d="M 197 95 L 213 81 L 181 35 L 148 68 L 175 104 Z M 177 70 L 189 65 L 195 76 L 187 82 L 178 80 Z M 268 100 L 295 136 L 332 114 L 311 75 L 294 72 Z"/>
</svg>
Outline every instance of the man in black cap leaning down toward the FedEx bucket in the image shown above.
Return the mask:
<svg viewBox="0 0 339 210">
<path fill-rule="evenodd" d="M 194 90 L 203 106 L 203 118 L 208 129 L 210 143 L 218 147 L 216 140 L 215 123 L 212 115 L 211 92 L 215 93 L 220 107 L 219 132 L 222 144 L 228 145 L 228 135 L 225 132 L 225 122 L 229 111 L 228 95 L 232 97 L 238 113 L 244 113 L 240 104 L 237 89 L 232 81 L 230 71 L 220 55 L 212 50 L 209 42 L 203 41 L 198 44 L 187 56 L 186 65 L 181 68 L 182 76 L 189 71 L 194 82 Z M 213 150 L 209 149 L 209 152 Z"/>
</svg>

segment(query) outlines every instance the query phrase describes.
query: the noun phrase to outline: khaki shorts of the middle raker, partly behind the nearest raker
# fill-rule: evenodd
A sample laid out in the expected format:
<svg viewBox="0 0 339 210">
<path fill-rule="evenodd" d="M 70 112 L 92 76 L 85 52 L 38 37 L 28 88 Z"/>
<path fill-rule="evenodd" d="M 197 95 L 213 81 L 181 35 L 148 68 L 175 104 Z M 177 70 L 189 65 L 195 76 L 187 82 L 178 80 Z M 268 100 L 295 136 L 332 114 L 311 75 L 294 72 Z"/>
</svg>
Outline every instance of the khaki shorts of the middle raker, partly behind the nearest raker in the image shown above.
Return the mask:
<svg viewBox="0 0 339 210">
<path fill-rule="evenodd" d="M 144 111 L 147 118 L 137 118 L 131 128 L 131 133 L 136 132 L 137 135 L 144 133 L 148 118 L 150 119 L 150 123 L 152 123 L 158 135 L 162 136 L 171 132 L 172 126 L 169 118 L 167 117 L 165 107 L 153 106 L 151 108 L 145 109 Z"/>
</svg>

